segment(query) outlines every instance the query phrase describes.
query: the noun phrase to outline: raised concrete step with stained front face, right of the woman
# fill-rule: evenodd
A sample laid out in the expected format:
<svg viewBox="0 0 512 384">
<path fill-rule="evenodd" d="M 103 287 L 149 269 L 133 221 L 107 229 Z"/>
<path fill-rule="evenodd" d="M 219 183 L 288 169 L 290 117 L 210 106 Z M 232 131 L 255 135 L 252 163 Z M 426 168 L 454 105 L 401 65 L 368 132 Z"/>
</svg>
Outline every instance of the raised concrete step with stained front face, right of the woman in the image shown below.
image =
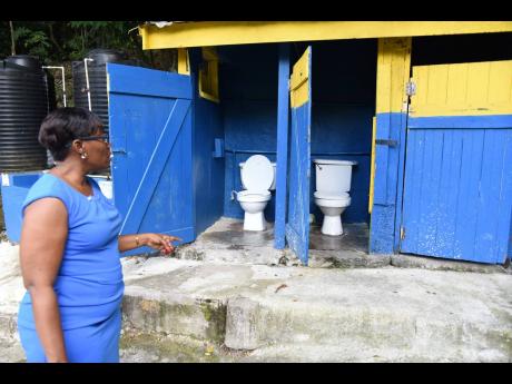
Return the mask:
<svg viewBox="0 0 512 384">
<path fill-rule="evenodd" d="M 263 360 L 272 355 L 264 351 L 285 345 L 343 346 L 343 361 L 370 358 L 361 351 L 388 361 L 512 360 L 506 274 L 147 262 L 159 270 L 167 263 L 173 270 L 151 275 L 148 265 L 144 277 L 127 276 L 125 323 L 145 333 L 221 346 L 227 336 L 244 334 L 237 327 L 250 328 Z M 229 328 L 226 314 L 236 297 L 256 305 Z"/>
</svg>

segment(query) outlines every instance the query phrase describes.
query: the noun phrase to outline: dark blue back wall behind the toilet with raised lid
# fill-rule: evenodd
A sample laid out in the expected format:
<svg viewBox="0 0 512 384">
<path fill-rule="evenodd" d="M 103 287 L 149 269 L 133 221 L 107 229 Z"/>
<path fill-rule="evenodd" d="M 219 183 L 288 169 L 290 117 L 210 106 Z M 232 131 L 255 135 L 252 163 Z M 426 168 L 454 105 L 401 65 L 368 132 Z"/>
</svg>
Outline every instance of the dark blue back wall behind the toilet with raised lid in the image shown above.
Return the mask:
<svg viewBox="0 0 512 384">
<path fill-rule="evenodd" d="M 277 148 L 277 45 L 224 47 L 219 52 L 219 81 L 225 130 L 226 168 L 224 215 L 243 218 L 232 190 L 242 190 L 238 164 L 255 152 L 270 161 Z M 275 191 L 265 208 L 274 221 Z"/>
</svg>

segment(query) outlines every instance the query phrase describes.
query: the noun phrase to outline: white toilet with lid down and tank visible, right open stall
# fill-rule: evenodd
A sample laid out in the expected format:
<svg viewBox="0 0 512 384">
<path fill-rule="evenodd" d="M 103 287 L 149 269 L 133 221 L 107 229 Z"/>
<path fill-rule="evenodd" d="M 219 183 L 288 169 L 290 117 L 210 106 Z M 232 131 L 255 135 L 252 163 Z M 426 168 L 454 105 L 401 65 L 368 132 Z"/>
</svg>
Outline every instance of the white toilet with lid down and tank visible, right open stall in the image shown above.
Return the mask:
<svg viewBox="0 0 512 384">
<path fill-rule="evenodd" d="M 343 235 L 342 214 L 351 205 L 352 167 L 356 161 L 315 159 L 315 204 L 324 214 L 322 233 Z"/>
</svg>

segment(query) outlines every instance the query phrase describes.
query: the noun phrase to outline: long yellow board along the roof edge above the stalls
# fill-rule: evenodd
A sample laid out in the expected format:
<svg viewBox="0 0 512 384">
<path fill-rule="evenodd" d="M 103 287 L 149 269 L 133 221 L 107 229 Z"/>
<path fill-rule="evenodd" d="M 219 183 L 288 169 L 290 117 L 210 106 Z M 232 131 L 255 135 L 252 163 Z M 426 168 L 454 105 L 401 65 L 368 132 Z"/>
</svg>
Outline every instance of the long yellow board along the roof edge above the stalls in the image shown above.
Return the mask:
<svg viewBox="0 0 512 384">
<path fill-rule="evenodd" d="M 139 27 L 142 49 L 510 32 L 510 21 L 199 21 Z"/>
</svg>

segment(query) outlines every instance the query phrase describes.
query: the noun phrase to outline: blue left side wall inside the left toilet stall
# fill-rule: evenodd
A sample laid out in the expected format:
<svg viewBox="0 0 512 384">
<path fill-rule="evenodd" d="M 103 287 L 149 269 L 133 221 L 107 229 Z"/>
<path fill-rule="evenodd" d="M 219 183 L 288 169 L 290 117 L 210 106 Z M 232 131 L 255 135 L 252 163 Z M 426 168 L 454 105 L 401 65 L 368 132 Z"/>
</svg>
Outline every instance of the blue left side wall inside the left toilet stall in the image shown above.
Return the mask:
<svg viewBox="0 0 512 384">
<path fill-rule="evenodd" d="M 190 50 L 193 76 L 193 175 L 196 234 L 200 234 L 223 216 L 224 158 L 214 158 L 215 139 L 224 138 L 220 106 L 199 97 L 197 88 L 199 49 Z"/>
</svg>

